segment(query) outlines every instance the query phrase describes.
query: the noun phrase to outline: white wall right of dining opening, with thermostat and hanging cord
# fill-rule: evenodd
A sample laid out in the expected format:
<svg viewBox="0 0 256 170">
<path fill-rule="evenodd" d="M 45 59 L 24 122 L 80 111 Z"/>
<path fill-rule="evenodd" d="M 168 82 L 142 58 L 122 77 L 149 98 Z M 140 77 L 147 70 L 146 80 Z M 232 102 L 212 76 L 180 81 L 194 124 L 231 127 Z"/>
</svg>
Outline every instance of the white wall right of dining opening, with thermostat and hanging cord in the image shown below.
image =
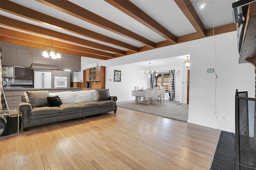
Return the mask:
<svg viewBox="0 0 256 170">
<path fill-rule="evenodd" d="M 213 38 L 211 38 L 213 39 Z M 190 105 L 188 122 L 226 131 L 235 129 L 235 90 L 248 91 L 254 97 L 254 67 L 238 64 L 236 32 L 217 35 L 216 40 L 216 106 L 214 115 L 214 74 L 206 68 L 214 68 L 214 48 L 202 39 L 197 48 L 200 52 L 191 54 Z M 194 46 L 195 47 L 195 46 Z M 196 48 L 196 47 L 195 47 Z M 225 120 L 221 116 L 225 116 Z M 220 123 L 218 123 L 218 119 Z M 222 127 L 222 128 L 221 128 Z"/>
</svg>

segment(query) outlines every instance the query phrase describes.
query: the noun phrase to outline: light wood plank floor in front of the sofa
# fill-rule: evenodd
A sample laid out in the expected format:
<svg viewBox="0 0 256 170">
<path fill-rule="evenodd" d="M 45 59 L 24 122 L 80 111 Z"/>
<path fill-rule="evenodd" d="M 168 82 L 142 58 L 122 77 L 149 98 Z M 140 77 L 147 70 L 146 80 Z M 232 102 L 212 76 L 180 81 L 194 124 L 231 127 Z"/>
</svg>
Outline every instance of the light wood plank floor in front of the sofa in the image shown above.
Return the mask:
<svg viewBox="0 0 256 170">
<path fill-rule="evenodd" d="M 118 107 L 0 139 L 0 169 L 210 168 L 220 131 Z"/>
</svg>

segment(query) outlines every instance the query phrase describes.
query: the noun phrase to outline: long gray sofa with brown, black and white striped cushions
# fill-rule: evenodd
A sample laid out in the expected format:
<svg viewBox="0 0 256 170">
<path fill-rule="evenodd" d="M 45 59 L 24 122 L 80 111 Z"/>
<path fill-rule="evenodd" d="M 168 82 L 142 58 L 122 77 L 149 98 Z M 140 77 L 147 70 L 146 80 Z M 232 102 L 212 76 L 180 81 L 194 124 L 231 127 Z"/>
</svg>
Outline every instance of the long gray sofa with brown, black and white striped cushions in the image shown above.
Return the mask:
<svg viewBox="0 0 256 170">
<path fill-rule="evenodd" d="M 110 96 L 108 89 L 77 92 L 26 91 L 19 104 L 22 112 L 22 127 L 29 127 L 63 121 L 84 119 L 86 116 L 114 111 L 116 96 Z"/>
</svg>

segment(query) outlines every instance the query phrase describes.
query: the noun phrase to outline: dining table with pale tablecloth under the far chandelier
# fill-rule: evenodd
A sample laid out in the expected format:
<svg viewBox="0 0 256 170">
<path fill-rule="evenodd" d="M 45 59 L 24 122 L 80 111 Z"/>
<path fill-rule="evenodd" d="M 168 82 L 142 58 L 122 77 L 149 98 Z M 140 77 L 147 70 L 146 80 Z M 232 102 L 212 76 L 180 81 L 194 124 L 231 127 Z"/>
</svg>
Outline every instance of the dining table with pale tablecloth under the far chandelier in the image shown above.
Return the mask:
<svg viewBox="0 0 256 170">
<path fill-rule="evenodd" d="M 161 90 L 158 91 L 158 95 L 160 95 Z M 154 90 L 132 90 L 132 96 L 135 96 L 136 103 L 142 103 L 150 105 L 149 98 L 154 96 Z M 138 100 L 138 98 L 143 97 L 145 100 Z"/>
</svg>

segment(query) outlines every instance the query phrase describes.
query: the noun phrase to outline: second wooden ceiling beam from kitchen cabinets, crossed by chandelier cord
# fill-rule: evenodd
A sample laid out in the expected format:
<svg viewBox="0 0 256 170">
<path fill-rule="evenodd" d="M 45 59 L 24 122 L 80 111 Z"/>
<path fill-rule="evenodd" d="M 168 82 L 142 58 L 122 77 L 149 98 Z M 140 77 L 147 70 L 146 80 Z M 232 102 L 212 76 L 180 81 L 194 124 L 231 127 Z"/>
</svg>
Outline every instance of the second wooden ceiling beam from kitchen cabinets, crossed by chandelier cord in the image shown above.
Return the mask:
<svg viewBox="0 0 256 170">
<path fill-rule="evenodd" d="M 23 33 L 20 31 L 14 31 L 11 29 L 3 28 L 3 27 L 0 27 L 0 35 L 4 35 L 7 37 L 13 37 L 13 38 L 17 38 L 17 39 L 24 39 L 26 41 L 31 41 L 31 42 L 35 42 L 35 43 L 45 44 L 45 45 L 48 45 L 49 48 L 51 46 L 51 39 L 39 37 L 39 36 L 28 34 L 28 33 Z M 66 49 L 70 49 L 70 50 L 74 50 L 74 51 L 81 51 L 84 53 L 90 53 L 90 54 L 114 58 L 114 54 L 112 54 L 112 53 L 107 53 L 105 51 L 90 49 L 87 47 L 82 47 L 80 45 L 74 45 L 74 44 L 65 43 L 65 42 L 57 41 L 57 40 L 53 40 L 52 44 L 55 47 L 62 47 L 62 48 L 66 48 Z"/>
</svg>

